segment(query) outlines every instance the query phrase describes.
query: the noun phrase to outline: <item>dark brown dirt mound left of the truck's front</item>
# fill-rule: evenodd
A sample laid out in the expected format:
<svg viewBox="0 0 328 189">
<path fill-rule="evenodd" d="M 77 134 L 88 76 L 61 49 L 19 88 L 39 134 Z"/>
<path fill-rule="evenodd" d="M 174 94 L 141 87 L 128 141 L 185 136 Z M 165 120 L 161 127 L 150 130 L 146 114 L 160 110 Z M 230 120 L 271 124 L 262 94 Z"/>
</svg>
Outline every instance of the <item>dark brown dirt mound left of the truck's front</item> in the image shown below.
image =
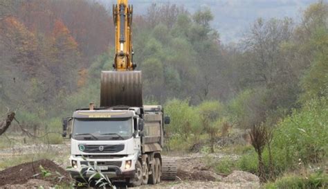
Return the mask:
<svg viewBox="0 0 328 189">
<path fill-rule="evenodd" d="M 48 172 L 53 173 L 53 175 L 44 178 L 41 174 L 42 171 L 39 168 L 40 165 L 42 165 L 42 167 Z M 60 178 L 61 176 L 57 175 L 56 172 L 58 172 L 62 178 Z M 58 165 L 53 163 L 53 161 L 48 159 L 23 163 L 0 172 L 0 186 L 7 184 L 23 184 L 27 183 L 30 179 L 44 179 L 54 184 L 59 181 L 69 183 L 69 174 L 66 170 L 60 168 Z"/>
</svg>

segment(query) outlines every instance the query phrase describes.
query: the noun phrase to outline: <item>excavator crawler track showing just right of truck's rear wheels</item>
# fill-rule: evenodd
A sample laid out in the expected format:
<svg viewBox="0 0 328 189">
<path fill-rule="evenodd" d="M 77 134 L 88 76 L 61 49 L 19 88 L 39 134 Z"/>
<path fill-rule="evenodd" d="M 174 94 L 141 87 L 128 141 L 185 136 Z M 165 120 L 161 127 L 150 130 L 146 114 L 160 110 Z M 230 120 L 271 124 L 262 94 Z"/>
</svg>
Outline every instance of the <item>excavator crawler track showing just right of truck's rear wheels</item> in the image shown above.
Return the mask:
<svg viewBox="0 0 328 189">
<path fill-rule="evenodd" d="M 163 158 L 162 159 L 162 177 L 163 181 L 174 181 L 176 179 L 176 161 Z"/>
</svg>

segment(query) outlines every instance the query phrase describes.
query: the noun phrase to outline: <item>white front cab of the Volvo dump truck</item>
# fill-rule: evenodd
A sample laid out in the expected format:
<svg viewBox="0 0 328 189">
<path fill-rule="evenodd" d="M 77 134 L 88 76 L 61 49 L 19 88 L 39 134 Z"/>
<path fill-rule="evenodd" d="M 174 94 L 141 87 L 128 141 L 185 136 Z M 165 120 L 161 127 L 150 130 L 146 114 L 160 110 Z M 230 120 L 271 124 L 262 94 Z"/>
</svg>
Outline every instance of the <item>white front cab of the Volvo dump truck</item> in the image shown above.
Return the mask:
<svg viewBox="0 0 328 189">
<path fill-rule="evenodd" d="M 140 125 L 143 121 L 138 111 L 140 109 L 75 111 L 70 161 L 77 174 L 72 172 L 72 176 L 84 172 L 82 165 L 92 165 L 109 177 L 122 174 L 133 177 L 134 165 L 141 154 Z"/>
</svg>

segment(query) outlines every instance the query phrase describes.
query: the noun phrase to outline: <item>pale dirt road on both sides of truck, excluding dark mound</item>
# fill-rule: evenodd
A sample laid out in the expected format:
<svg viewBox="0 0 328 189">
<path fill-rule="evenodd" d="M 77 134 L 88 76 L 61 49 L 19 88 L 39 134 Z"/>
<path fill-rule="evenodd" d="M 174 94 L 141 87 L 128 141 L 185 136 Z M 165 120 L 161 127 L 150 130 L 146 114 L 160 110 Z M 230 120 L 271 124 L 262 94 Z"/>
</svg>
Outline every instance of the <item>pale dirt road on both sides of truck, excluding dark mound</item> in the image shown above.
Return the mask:
<svg viewBox="0 0 328 189">
<path fill-rule="evenodd" d="M 35 156 L 35 159 L 42 159 L 42 156 L 37 154 L 45 154 L 45 152 L 46 154 L 54 154 L 46 156 L 46 158 L 55 162 L 58 167 L 65 169 L 69 165 L 69 161 L 67 161 L 69 156 L 68 143 L 62 145 L 17 145 L 2 149 L 0 150 L 0 163 L 6 163 L 10 158 L 17 159 L 19 156 Z M 211 156 L 219 160 L 226 155 L 211 154 Z M 176 181 L 162 181 L 156 186 L 148 185 L 140 188 L 259 188 L 258 177 L 248 172 L 233 172 L 230 175 L 215 173 L 213 168 L 207 165 L 206 157 L 203 154 L 171 154 L 170 158 L 176 160 L 178 165 Z M 236 157 L 230 156 L 230 158 Z M 31 186 L 49 187 L 51 183 L 39 179 L 28 179 L 26 183 L 6 185 L 6 188 L 30 188 Z M 1 187 L 4 186 L 0 184 Z"/>
</svg>

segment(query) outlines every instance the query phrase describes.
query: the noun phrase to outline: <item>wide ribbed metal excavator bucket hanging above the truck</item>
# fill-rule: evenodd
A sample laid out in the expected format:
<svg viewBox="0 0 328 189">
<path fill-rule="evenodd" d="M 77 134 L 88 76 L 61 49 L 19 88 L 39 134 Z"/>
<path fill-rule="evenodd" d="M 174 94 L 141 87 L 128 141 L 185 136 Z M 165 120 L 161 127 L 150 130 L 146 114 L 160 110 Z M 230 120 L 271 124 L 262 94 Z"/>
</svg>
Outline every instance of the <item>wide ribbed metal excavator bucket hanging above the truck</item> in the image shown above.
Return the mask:
<svg viewBox="0 0 328 189">
<path fill-rule="evenodd" d="M 141 71 L 102 71 L 100 107 L 143 106 Z"/>
</svg>

